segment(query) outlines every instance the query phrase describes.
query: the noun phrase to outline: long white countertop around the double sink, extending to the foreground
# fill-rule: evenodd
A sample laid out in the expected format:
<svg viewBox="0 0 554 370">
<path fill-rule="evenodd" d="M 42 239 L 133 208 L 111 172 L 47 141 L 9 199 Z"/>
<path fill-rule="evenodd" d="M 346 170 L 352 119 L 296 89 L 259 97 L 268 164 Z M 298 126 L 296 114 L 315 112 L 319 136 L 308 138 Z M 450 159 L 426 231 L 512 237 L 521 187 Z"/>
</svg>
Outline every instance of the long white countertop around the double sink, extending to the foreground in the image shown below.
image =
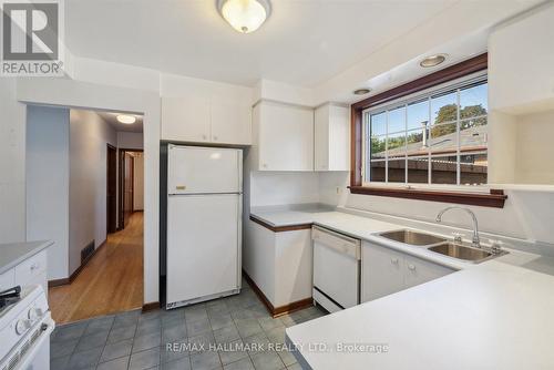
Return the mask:
<svg viewBox="0 0 554 370">
<path fill-rule="evenodd" d="M 554 338 L 553 257 L 507 249 L 481 264 L 464 263 L 376 235 L 407 228 L 401 224 L 294 208 L 252 212 L 273 226 L 312 223 L 458 270 L 287 328 L 287 342 L 298 348 L 296 356 L 307 369 L 554 368 L 548 348 Z M 352 347 L 340 349 L 339 343 L 368 346 L 349 351 Z M 383 345 L 387 352 L 368 352 Z"/>
</svg>

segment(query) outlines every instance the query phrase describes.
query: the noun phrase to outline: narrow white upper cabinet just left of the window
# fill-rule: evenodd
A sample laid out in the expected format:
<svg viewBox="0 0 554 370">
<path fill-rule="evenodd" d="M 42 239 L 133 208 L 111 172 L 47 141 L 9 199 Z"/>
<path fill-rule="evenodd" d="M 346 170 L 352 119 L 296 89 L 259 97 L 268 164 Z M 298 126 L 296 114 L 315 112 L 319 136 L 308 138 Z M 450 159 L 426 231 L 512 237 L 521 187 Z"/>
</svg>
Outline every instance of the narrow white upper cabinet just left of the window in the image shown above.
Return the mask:
<svg viewBox="0 0 554 370">
<path fill-rule="evenodd" d="M 348 107 L 325 104 L 315 112 L 315 171 L 349 171 Z"/>
</svg>

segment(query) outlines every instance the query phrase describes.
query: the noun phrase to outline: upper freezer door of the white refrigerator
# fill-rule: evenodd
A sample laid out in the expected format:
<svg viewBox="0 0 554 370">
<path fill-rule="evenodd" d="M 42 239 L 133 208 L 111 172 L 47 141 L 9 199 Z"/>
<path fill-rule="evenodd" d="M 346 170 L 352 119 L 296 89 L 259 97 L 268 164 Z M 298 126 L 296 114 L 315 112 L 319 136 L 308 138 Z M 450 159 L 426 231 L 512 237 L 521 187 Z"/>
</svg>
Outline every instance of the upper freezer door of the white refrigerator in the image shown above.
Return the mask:
<svg viewBox="0 0 554 370">
<path fill-rule="evenodd" d="M 170 194 L 240 193 L 243 152 L 225 147 L 168 147 Z"/>
</svg>

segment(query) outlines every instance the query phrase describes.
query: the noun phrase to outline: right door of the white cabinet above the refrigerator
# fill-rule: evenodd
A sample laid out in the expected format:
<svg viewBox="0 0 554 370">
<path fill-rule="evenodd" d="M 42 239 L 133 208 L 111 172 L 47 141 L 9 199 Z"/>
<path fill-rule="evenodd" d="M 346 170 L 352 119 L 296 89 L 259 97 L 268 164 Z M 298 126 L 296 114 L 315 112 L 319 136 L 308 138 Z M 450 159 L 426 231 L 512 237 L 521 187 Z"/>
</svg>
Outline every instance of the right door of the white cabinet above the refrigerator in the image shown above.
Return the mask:
<svg viewBox="0 0 554 370">
<path fill-rule="evenodd" d="M 250 144 L 250 106 L 242 103 L 212 104 L 212 141 L 225 144 Z"/>
</svg>

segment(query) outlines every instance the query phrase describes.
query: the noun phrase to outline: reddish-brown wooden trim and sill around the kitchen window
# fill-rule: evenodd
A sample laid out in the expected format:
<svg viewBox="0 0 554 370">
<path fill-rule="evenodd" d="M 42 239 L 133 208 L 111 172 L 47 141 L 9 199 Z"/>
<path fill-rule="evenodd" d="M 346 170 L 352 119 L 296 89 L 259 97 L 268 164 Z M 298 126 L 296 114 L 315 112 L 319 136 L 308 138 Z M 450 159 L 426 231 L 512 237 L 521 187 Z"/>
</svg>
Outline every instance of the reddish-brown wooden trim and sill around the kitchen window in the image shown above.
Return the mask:
<svg viewBox="0 0 554 370">
<path fill-rule="evenodd" d="M 390 196 L 398 198 L 421 199 L 430 202 L 445 202 L 475 205 L 483 207 L 504 207 L 505 199 L 503 191 L 491 189 L 486 193 L 462 193 L 445 191 L 428 191 L 412 188 L 362 186 L 362 112 L 367 109 L 380 105 L 393 100 L 411 95 L 413 93 L 453 81 L 471 73 L 488 69 L 488 53 L 471 58 L 461 63 L 448 66 L 443 70 L 428 74 L 420 79 L 390 89 L 375 96 L 359 101 L 350 106 L 351 110 L 351 152 L 350 152 L 350 193 L 377 196 Z"/>
</svg>

